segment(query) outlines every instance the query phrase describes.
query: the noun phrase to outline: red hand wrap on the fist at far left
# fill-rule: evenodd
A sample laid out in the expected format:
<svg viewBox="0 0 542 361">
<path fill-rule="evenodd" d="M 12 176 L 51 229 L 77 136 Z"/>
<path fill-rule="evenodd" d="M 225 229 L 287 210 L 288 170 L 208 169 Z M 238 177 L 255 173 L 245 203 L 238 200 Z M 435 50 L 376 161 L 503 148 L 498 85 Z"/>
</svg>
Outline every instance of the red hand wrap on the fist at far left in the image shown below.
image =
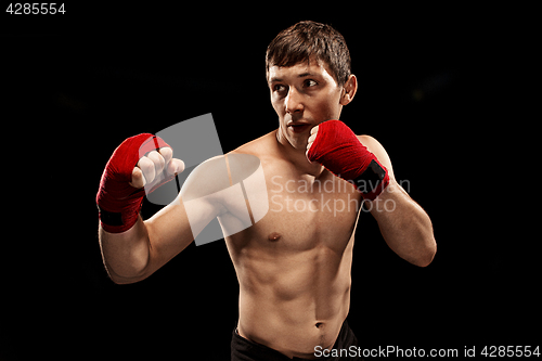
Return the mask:
<svg viewBox="0 0 542 361">
<path fill-rule="evenodd" d="M 128 138 L 113 152 L 105 166 L 96 194 L 100 221 L 105 231 L 120 233 L 136 224 L 145 190 L 136 189 L 129 184 L 133 167 L 146 153 L 165 146 L 169 145 L 160 138 L 142 133 Z M 173 177 L 166 178 L 158 185 Z M 154 186 L 153 190 L 156 188 Z"/>
</svg>

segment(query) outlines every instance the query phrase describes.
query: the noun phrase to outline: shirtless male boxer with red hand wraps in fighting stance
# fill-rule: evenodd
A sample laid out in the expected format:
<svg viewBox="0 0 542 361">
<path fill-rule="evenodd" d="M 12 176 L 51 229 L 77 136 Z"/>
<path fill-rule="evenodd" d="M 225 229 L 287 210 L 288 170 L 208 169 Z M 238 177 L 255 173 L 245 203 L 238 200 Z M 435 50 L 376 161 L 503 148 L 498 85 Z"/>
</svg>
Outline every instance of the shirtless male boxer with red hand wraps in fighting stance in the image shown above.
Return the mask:
<svg viewBox="0 0 542 361">
<path fill-rule="evenodd" d="M 263 218 L 225 236 L 240 283 L 232 360 L 317 359 L 357 343 L 346 318 L 363 202 L 388 246 L 409 262 L 429 265 L 436 242 L 429 217 L 396 182 L 384 147 L 327 121 L 339 119 L 358 87 L 343 36 L 327 25 L 298 23 L 270 43 L 266 63 L 279 128 L 223 156 L 256 156 L 269 196 Z M 204 163 L 173 203 L 143 221 L 144 193 L 137 190 L 184 166 L 162 140 L 141 145 L 138 137 L 115 151 L 96 196 L 104 265 L 119 284 L 147 278 L 194 240 L 184 203 L 215 175 Z M 147 155 L 140 157 L 133 142 L 149 145 Z M 235 220 L 235 206 L 217 197 L 191 206 L 191 217 L 204 224 Z"/>
</svg>

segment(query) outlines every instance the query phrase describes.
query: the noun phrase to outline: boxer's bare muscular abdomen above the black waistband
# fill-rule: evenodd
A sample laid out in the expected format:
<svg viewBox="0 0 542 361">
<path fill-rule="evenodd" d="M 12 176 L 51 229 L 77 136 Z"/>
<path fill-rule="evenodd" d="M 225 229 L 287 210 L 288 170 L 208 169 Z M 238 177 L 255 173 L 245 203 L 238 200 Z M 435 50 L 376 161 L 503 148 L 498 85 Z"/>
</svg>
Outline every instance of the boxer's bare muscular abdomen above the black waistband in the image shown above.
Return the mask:
<svg viewBox="0 0 542 361">
<path fill-rule="evenodd" d="M 291 358 L 331 348 L 350 307 L 352 244 L 353 236 L 341 254 L 321 244 L 279 257 L 256 249 L 235 257 L 240 335 Z"/>
</svg>

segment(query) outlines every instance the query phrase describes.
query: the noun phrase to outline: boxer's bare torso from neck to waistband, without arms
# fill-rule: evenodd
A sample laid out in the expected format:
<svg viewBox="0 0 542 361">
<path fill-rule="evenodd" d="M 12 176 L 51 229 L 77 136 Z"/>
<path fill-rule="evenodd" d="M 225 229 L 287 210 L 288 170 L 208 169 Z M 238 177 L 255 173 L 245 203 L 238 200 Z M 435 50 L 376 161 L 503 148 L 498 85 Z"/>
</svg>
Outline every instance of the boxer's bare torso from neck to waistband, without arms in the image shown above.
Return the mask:
<svg viewBox="0 0 542 361">
<path fill-rule="evenodd" d="M 302 173 L 275 132 L 233 153 L 263 167 L 269 211 L 225 238 L 240 283 L 238 333 L 288 357 L 332 347 L 350 307 L 361 196 L 327 170 Z"/>
</svg>

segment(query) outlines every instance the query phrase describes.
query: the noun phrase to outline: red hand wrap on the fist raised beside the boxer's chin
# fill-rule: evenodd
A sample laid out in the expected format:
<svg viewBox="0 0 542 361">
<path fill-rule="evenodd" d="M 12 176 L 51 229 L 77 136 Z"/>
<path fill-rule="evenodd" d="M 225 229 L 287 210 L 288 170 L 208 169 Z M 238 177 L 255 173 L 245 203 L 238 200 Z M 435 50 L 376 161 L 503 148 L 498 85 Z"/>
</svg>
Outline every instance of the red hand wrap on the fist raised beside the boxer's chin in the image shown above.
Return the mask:
<svg viewBox="0 0 542 361">
<path fill-rule="evenodd" d="M 317 139 L 307 158 L 352 183 L 365 199 L 376 198 L 389 183 L 386 167 L 340 120 L 327 120 L 319 125 Z"/>
</svg>

